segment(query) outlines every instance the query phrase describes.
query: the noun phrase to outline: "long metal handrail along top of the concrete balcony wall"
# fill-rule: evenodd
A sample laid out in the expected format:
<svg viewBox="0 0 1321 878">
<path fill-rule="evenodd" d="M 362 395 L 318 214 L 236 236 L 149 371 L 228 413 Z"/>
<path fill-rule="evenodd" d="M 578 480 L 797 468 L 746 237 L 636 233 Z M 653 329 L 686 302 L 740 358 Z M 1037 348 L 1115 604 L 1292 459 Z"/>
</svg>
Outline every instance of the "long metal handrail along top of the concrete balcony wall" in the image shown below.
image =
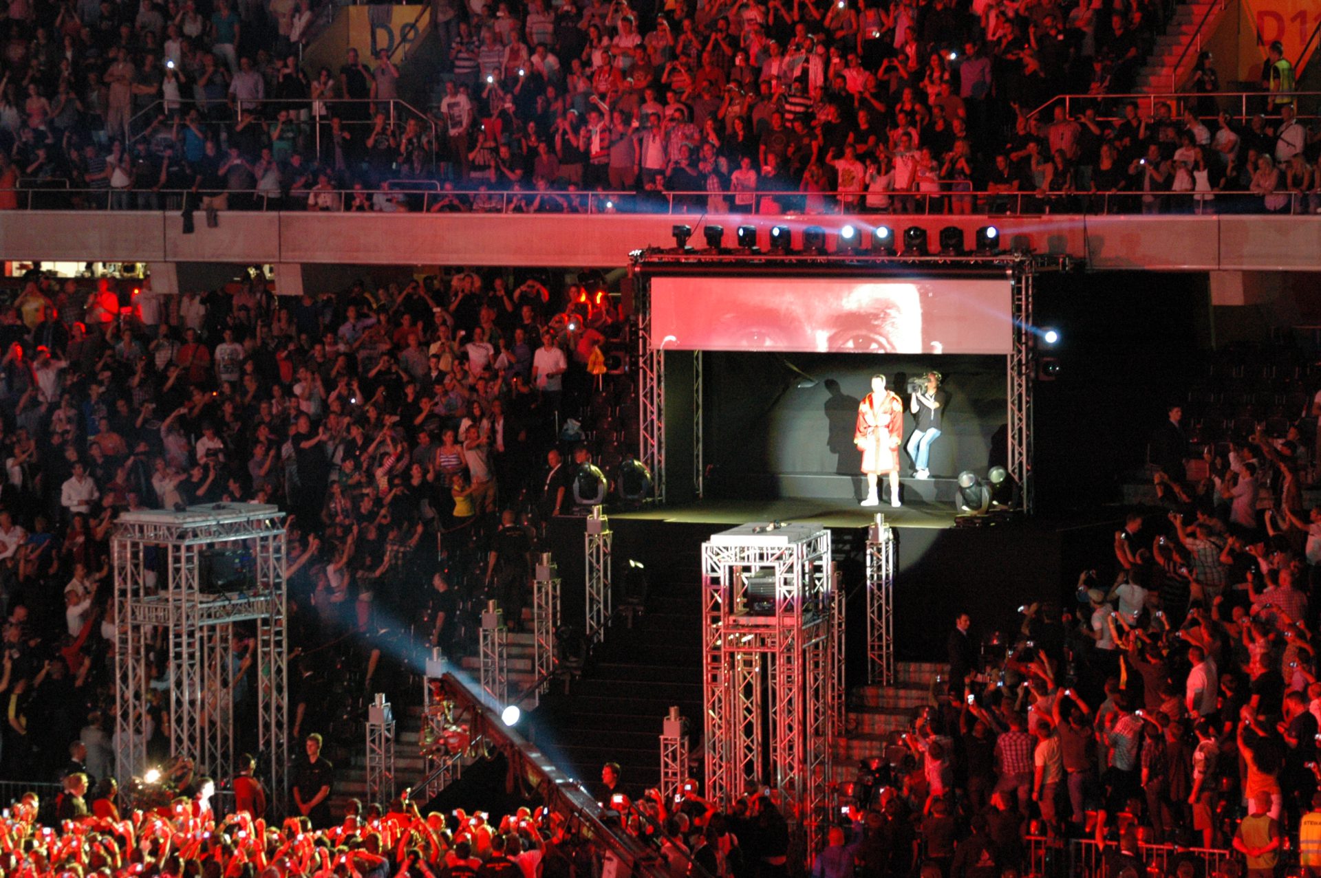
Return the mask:
<svg viewBox="0 0 1321 878">
<path fill-rule="evenodd" d="M 428 185 L 432 181 L 387 181 L 390 184 L 399 182 L 403 186 L 423 184 Z M 104 199 L 104 209 L 112 209 L 114 195 L 120 194 L 136 194 L 140 190 L 132 187 L 125 189 L 24 189 L 11 190 L 17 193 L 24 193 L 26 195 L 26 209 L 33 210 L 33 195 L 94 195 L 96 199 Z M 180 190 L 180 189 L 161 189 L 161 190 L 145 190 L 151 191 L 157 197 L 174 197 L 184 199 L 188 195 L 198 197 L 198 193 L 193 190 Z M 217 193 L 219 194 L 219 193 Z M 408 210 L 400 213 L 439 213 L 440 207 L 449 201 L 458 202 L 464 213 L 487 213 L 487 214 L 518 214 L 518 213 L 573 213 L 573 214 L 589 214 L 589 215 L 614 215 L 637 213 L 645 215 L 676 215 L 676 217 L 700 217 L 712 213 L 709 209 L 709 198 L 719 197 L 725 201 L 732 201 L 733 195 L 738 193 L 723 191 L 712 193 L 707 190 L 695 191 L 667 191 L 663 193 L 666 197 L 664 206 L 662 209 L 655 209 L 654 205 L 646 202 L 638 203 L 638 193 L 633 191 L 581 191 L 581 190 L 482 190 L 482 189 L 450 189 L 450 190 L 435 190 L 435 189 L 324 189 L 324 190 L 301 190 L 297 193 L 284 194 L 279 197 L 258 189 L 234 190 L 225 191 L 227 195 L 248 195 L 259 199 L 259 206 L 255 206 L 251 211 L 231 209 L 232 213 L 288 213 L 285 203 L 293 205 L 309 205 L 312 202 L 312 195 L 329 195 L 333 202 L 333 207 L 328 210 L 312 210 L 296 211 L 296 213 L 346 213 L 345 207 L 357 195 L 365 195 L 373 198 L 376 194 L 387 194 L 399 199 L 402 202 L 419 203 L 420 210 Z M 756 193 L 758 202 L 753 205 L 754 209 L 762 207 L 761 198 L 778 198 L 778 199 L 802 199 L 804 193 L 798 190 L 783 190 L 783 191 L 758 191 Z M 1225 199 L 1234 198 L 1239 199 L 1239 203 L 1247 199 L 1263 199 L 1262 193 L 1255 193 L 1251 190 L 1242 189 L 1219 189 L 1210 191 L 1143 191 L 1143 190 L 1119 190 L 1119 191 L 1040 191 L 1040 190 L 1021 190 L 1021 191 L 888 191 L 888 193 L 871 193 L 873 197 L 885 195 L 889 199 L 889 205 L 880 209 L 872 209 L 865 205 L 868 193 L 855 193 L 855 191 L 823 191 L 811 193 L 822 199 L 824 210 L 820 211 L 803 211 L 802 209 L 781 206 L 779 210 L 771 214 L 748 211 L 746 217 L 752 222 L 757 217 L 766 215 L 791 215 L 798 223 L 810 223 L 815 217 L 840 217 L 840 218 L 856 218 L 857 222 L 868 231 L 865 227 L 871 224 L 869 218 L 882 218 L 882 217 L 1036 217 L 1044 214 L 1053 215 L 1135 215 L 1141 213 L 1139 205 L 1161 205 L 1161 206 L 1176 206 L 1184 207 L 1185 213 L 1198 213 L 1198 205 L 1201 203 L 1201 210 L 1210 211 L 1214 205 L 1223 205 Z M 1288 199 L 1287 209 L 1273 211 L 1277 214 L 1306 214 L 1309 202 L 1316 199 L 1318 207 L 1321 207 L 1321 186 L 1313 187 L 1310 191 L 1303 190 L 1289 190 L 1280 189 L 1272 195 L 1280 195 Z M 530 203 L 538 197 L 550 197 L 567 202 L 567 210 L 564 211 L 551 211 L 540 210 L 532 211 Z M 280 201 L 272 205 L 272 199 L 279 198 Z M 480 207 L 474 207 L 474 202 L 482 202 Z M 520 207 L 522 202 L 522 209 Z M 962 213 L 951 211 L 952 205 L 966 206 L 967 210 Z M 96 209 L 102 205 L 96 205 Z M 725 213 L 732 213 L 737 215 L 737 211 L 731 210 L 732 205 L 725 206 Z M 1192 210 L 1188 210 L 1192 209 Z M 61 210 L 67 209 L 46 209 L 38 207 L 37 210 Z M 123 209 L 131 210 L 131 209 Z M 137 213 L 157 213 L 155 210 L 137 211 Z M 174 213 L 173 210 L 168 213 Z M 378 211 L 373 211 L 374 214 Z M 1157 211 L 1159 213 L 1159 211 Z M 1214 213 L 1211 215 L 1215 215 Z M 880 222 L 875 224 L 881 224 Z"/>
</svg>

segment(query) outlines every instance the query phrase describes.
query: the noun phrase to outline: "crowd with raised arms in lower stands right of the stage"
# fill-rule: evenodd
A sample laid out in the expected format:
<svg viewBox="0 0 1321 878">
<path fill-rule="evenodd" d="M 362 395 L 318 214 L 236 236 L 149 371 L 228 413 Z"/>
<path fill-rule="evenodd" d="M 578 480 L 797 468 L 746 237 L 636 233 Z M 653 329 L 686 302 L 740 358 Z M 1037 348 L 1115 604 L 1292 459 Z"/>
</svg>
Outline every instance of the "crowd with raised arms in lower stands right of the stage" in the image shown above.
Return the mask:
<svg viewBox="0 0 1321 878">
<path fill-rule="evenodd" d="M 853 860 L 991 875 L 1040 836 L 1095 841 L 1110 875 L 1321 869 L 1314 415 L 1193 461 L 1181 415 L 1153 440 L 1164 508 L 1127 516 L 1077 601 L 1018 607 L 1008 632 L 958 618 L 934 706 L 861 766 L 855 796 L 890 841 L 864 833 Z M 1153 866 L 1161 844 L 1182 853 Z"/>
</svg>

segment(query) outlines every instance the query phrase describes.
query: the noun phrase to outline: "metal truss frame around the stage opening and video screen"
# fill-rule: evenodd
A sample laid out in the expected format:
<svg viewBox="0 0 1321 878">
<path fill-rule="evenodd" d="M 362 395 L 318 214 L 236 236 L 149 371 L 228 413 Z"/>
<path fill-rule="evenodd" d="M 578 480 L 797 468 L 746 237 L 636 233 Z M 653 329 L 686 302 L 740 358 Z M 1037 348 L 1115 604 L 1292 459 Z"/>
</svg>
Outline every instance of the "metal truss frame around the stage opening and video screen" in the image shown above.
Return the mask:
<svg viewBox="0 0 1321 878">
<path fill-rule="evenodd" d="M 1008 471 L 1020 486 L 1017 508 L 1034 511 L 1033 490 L 1033 386 L 1037 350 L 1034 313 L 1036 276 L 1046 271 L 1070 271 L 1081 267 L 1071 256 L 1032 255 L 1025 252 L 966 256 L 869 256 L 865 253 L 781 255 L 721 253 L 715 251 L 683 252 L 651 248 L 631 253 L 635 280 L 634 301 L 638 316 L 638 459 L 646 463 L 654 479 L 654 499 L 666 502 L 664 454 L 664 342 L 657 343 L 651 325 L 651 275 L 851 275 L 851 276 L 958 276 L 1004 272 L 1011 285 L 1013 318 L 1011 351 L 1007 358 L 1007 422 Z M 686 353 L 686 351 L 671 351 Z M 703 362 L 694 353 L 694 487 L 701 496 L 705 487 L 703 457 Z"/>
</svg>

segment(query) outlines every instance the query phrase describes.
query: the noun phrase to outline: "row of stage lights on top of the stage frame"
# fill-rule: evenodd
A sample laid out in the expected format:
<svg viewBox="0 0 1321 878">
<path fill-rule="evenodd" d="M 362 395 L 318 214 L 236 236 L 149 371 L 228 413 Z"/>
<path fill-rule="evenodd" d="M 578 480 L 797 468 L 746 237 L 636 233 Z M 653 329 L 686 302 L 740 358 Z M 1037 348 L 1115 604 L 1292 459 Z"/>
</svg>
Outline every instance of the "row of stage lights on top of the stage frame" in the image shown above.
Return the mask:
<svg viewBox="0 0 1321 878">
<path fill-rule="evenodd" d="M 688 239 L 692 238 L 692 226 L 675 226 L 671 230 L 674 243 L 679 250 L 688 248 Z M 724 248 L 724 226 L 704 226 L 701 230 L 707 240 L 707 248 L 720 251 Z M 736 231 L 738 248 L 748 252 L 761 252 L 757 246 L 757 227 L 738 226 Z M 770 252 L 789 253 L 793 250 L 791 230 L 789 226 L 771 226 Z M 835 238 L 836 253 L 857 253 L 863 244 L 863 231 L 853 224 L 840 226 Z M 968 250 L 964 246 L 963 230 L 958 226 L 946 226 L 939 236 L 941 256 L 966 256 Z M 808 226 L 803 230 L 804 253 L 826 252 L 826 230 L 820 226 Z M 872 230 L 868 252 L 873 256 L 931 256 L 927 246 L 926 230 L 921 226 L 909 226 L 904 230 L 902 250 L 898 248 L 898 239 L 889 226 L 877 226 Z M 974 250 L 978 256 L 995 256 L 1000 253 L 1000 230 L 995 226 L 982 226 L 974 235 Z"/>
</svg>

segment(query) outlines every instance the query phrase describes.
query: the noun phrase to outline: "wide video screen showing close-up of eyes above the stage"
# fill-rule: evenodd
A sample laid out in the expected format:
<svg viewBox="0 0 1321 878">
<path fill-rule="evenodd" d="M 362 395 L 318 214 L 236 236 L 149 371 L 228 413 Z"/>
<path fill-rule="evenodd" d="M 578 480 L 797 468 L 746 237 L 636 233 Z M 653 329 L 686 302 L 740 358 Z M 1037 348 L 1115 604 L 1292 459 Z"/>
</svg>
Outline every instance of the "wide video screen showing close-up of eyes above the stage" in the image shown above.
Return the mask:
<svg viewBox="0 0 1321 878">
<path fill-rule="evenodd" d="M 664 350 L 1009 354 L 1009 280 L 653 277 Z"/>
</svg>

